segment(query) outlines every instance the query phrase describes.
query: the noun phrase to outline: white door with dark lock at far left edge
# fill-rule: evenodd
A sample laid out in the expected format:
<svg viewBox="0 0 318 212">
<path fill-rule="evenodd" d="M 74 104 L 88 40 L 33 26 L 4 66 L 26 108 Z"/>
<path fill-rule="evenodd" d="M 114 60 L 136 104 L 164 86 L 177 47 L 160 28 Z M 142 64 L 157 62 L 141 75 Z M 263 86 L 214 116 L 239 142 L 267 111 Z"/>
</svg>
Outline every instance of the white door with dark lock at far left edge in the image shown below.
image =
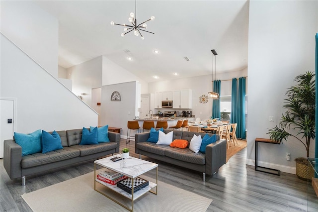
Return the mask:
<svg viewBox="0 0 318 212">
<path fill-rule="evenodd" d="M 13 100 L 0 102 L 0 158 L 3 158 L 3 141 L 13 138 Z"/>
</svg>

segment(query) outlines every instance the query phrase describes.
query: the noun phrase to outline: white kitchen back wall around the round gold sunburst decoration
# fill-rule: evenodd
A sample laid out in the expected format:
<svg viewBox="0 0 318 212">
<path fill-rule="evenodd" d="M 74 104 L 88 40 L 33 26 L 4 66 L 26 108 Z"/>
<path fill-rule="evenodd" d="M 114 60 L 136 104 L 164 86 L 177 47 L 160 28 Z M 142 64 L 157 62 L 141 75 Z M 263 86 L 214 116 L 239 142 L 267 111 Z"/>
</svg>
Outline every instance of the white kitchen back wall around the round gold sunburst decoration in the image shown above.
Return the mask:
<svg viewBox="0 0 318 212">
<path fill-rule="evenodd" d="M 221 82 L 221 96 L 231 95 L 232 92 L 232 78 L 239 78 L 247 75 L 247 69 L 236 72 L 219 73 L 216 75 L 217 80 L 229 80 Z M 201 95 L 207 95 L 212 91 L 212 75 L 204 75 L 198 77 L 182 78 L 176 80 L 160 81 L 148 84 L 148 93 L 155 93 L 161 91 L 174 91 L 180 89 L 192 90 L 192 115 L 207 119 L 212 116 L 212 100 L 209 99 L 208 103 L 203 105 L 199 103 Z M 160 111 L 175 110 L 172 108 L 159 109 Z M 158 109 L 156 109 L 156 112 Z M 179 111 L 182 111 L 179 110 Z M 155 113 L 155 111 L 154 111 Z"/>
</svg>

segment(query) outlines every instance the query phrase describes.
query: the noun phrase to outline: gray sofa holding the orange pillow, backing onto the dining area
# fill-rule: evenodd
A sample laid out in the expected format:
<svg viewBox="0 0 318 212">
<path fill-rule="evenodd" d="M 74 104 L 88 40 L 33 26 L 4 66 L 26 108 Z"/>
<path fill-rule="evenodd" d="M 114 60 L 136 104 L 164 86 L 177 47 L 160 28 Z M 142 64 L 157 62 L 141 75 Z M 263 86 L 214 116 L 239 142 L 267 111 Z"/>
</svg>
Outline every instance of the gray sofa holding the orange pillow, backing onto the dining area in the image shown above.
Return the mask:
<svg viewBox="0 0 318 212">
<path fill-rule="evenodd" d="M 221 139 L 218 135 L 217 142 L 207 145 L 206 153 L 194 153 L 189 149 L 190 141 L 193 134 L 201 137 L 206 133 L 188 132 L 164 129 L 164 133 L 173 131 L 174 139 L 184 139 L 188 141 L 188 146 L 185 149 L 173 148 L 168 145 L 158 145 L 156 143 L 148 142 L 150 132 L 136 134 L 135 152 L 137 154 L 145 155 L 160 161 L 171 163 L 184 168 L 192 169 L 203 173 L 203 181 L 205 181 L 205 174 L 213 175 L 217 172 L 223 164 L 226 163 L 227 157 L 227 142 Z M 210 136 L 212 134 L 209 134 Z"/>
</svg>

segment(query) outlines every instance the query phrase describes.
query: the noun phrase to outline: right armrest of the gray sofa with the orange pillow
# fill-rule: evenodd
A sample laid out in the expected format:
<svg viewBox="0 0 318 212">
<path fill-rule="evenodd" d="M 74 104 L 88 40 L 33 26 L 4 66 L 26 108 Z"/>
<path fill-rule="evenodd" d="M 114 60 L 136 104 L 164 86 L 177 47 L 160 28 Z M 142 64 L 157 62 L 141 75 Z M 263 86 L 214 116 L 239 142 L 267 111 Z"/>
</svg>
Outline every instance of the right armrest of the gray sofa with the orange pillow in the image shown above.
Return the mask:
<svg viewBox="0 0 318 212">
<path fill-rule="evenodd" d="M 206 146 L 205 149 L 205 172 L 208 175 L 214 174 L 226 163 L 227 140 L 220 139 L 215 143 Z"/>
</svg>

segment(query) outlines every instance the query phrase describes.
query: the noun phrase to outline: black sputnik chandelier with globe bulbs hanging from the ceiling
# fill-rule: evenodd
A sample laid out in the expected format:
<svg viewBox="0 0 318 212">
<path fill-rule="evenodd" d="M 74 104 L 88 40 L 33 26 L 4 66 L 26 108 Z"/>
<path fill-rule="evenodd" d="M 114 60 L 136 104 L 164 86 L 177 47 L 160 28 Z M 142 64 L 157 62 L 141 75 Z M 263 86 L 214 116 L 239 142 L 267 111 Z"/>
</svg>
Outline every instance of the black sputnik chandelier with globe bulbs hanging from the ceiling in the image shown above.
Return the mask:
<svg viewBox="0 0 318 212">
<path fill-rule="evenodd" d="M 151 16 L 150 19 L 140 23 L 137 25 L 137 18 L 136 18 L 136 5 L 137 5 L 137 0 L 135 0 L 135 13 L 131 12 L 129 15 L 130 17 L 128 18 L 128 21 L 132 23 L 132 25 L 128 25 L 128 24 L 118 24 L 118 23 L 115 23 L 114 21 L 111 21 L 110 22 L 110 25 L 114 26 L 114 25 L 119 25 L 119 26 L 125 26 L 124 28 L 124 32 L 125 33 L 121 33 L 121 36 L 124 37 L 125 34 L 131 32 L 131 31 L 134 31 L 134 35 L 136 36 L 141 36 L 141 39 L 144 40 L 145 37 L 141 34 L 140 31 L 144 31 L 144 32 L 149 32 L 149 33 L 152 33 L 152 34 L 155 34 L 154 32 L 150 32 L 150 31 L 147 31 L 145 29 L 147 29 L 147 23 L 148 21 L 150 20 L 154 20 L 155 19 L 155 16 Z M 134 19 L 135 18 L 135 19 Z"/>
</svg>

